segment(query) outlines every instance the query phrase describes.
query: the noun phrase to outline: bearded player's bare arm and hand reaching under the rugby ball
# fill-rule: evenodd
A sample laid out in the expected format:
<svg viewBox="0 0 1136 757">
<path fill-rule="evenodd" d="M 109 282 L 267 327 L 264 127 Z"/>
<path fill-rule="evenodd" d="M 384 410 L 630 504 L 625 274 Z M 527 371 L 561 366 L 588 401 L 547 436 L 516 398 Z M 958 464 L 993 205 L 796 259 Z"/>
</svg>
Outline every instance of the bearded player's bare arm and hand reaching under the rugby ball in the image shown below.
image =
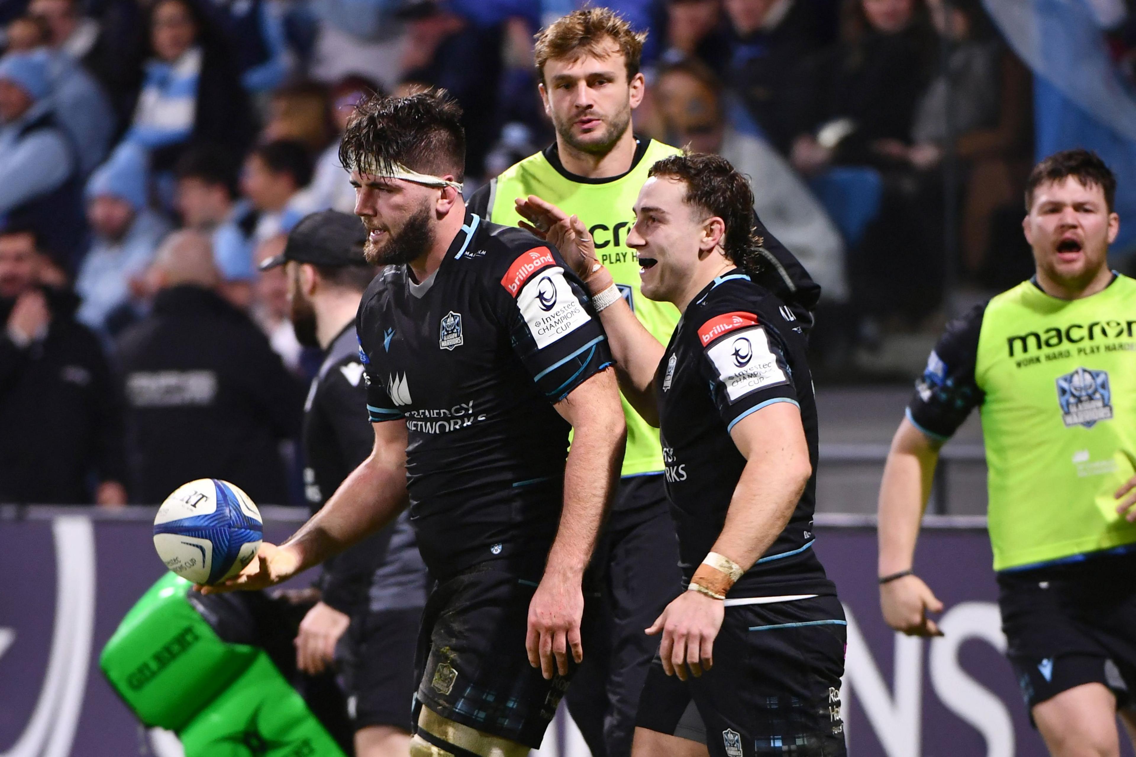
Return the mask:
<svg viewBox="0 0 1136 757">
<path fill-rule="evenodd" d="M 264 589 L 281 583 L 383 528 L 407 506 L 407 422 L 382 421 L 375 447 L 327 504 L 281 546 L 260 545 L 257 560 L 202 594 Z"/>
</svg>

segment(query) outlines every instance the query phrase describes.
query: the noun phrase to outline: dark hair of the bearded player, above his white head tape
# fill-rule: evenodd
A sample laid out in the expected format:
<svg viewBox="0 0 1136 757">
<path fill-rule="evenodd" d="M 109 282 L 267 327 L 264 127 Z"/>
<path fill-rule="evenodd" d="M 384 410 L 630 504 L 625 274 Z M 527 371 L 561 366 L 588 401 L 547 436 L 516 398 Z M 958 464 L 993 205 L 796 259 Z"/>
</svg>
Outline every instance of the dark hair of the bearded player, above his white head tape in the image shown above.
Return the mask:
<svg viewBox="0 0 1136 757">
<path fill-rule="evenodd" d="M 340 143 L 349 171 L 389 175 L 395 163 L 420 174 L 461 182 L 466 175 L 466 132 L 461 107 L 445 90 L 407 98 L 374 94 L 356 108 Z"/>
</svg>

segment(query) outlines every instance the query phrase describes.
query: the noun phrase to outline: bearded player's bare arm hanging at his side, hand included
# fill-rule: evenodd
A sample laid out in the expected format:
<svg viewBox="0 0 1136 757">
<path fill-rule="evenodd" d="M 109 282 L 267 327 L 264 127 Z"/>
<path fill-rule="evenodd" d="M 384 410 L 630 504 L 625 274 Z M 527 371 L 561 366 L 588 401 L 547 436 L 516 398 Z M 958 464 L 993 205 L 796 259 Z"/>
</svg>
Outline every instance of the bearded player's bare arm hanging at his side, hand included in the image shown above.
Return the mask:
<svg viewBox="0 0 1136 757">
<path fill-rule="evenodd" d="M 573 426 L 565 463 L 563 510 L 549 550 L 544 578 L 528 607 L 525 649 L 546 679 L 568 673 L 568 650 L 584 659 L 579 625 L 584 613 L 580 582 L 592 558 L 608 502 L 619 478 L 627 428 L 616 379 L 602 370 L 556 404 Z"/>
</svg>

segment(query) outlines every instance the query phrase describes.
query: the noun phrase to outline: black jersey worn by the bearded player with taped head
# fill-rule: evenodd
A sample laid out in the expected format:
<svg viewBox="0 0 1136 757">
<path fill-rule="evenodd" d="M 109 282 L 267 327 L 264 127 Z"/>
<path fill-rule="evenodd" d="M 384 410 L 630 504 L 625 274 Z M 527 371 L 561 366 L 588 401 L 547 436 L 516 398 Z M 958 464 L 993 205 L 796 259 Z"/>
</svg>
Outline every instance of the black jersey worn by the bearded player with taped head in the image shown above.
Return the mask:
<svg viewBox="0 0 1136 757">
<path fill-rule="evenodd" d="M 371 421 L 407 422 L 410 520 L 435 578 L 494 558 L 543 560 L 568 449 L 553 404 L 611 364 L 560 254 L 467 213 L 427 280 L 416 284 L 407 266 L 376 277 L 357 328 Z"/>
</svg>

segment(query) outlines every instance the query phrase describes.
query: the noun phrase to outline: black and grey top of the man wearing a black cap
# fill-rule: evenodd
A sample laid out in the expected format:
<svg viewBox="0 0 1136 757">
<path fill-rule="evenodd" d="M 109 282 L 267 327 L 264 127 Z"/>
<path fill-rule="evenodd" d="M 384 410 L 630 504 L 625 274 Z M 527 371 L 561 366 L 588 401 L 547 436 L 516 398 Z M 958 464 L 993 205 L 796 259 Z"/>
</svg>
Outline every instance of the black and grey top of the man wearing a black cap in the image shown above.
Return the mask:
<svg viewBox="0 0 1136 757">
<path fill-rule="evenodd" d="M 348 323 L 328 346 L 303 405 L 303 494 L 312 512 L 375 446 L 366 404 L 354 323 Z M 425 604 L 426 567 L 406 513 L 325 561 L 319 586 L 324 603 L 349 615 Z"/>
</svg>

